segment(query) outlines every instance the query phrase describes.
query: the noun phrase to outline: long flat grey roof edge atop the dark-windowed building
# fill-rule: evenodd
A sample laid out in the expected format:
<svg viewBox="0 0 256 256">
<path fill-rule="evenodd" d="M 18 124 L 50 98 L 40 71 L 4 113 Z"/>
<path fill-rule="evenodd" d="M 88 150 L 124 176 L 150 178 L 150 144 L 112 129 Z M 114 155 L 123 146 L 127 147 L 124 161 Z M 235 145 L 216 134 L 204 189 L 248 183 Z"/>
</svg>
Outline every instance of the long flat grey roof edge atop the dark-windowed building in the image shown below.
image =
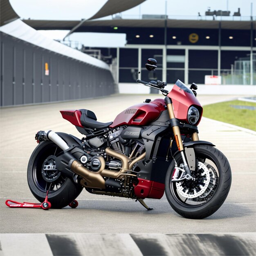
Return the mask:
<svg viewBox="0 0 256 256">
<path fill-rule="evenodd" d="M 75 20 L 23 20 L 35 29 L 72 29 L 80 21 Z M 218 20 L 167 20 L 168 28 L 205 28 L 218 29 Z M 86 32 L 87 27 L 162 27 L 164 19 L 119 19 L 119 20 L 86 20 L 79 27 L 79 32 Z M 251 21 L 222 20 L 222 29 L 250 29 Z M 255 29 L 256 24 L 253 22 Z"/>
</svg>

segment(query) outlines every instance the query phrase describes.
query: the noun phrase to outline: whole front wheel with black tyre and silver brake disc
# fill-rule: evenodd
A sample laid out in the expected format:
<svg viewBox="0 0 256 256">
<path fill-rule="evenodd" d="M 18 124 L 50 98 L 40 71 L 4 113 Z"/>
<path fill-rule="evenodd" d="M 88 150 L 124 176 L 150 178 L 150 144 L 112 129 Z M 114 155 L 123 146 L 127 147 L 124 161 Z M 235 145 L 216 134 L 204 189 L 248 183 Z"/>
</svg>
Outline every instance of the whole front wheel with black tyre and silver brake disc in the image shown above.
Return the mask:
<svg viewBox="0 0 256 256">
<path fill-rule="evenodd" d="M 165 193 L 171 207 L 184 218 L 203 219 L 216 212 L 223 204 L 231 186 L 231 168 L 225 155 L 209 145 L 194 147 L 196 168 L 191 171 L 193 181 L 172 182 L 174 161 L 168 168 Z M 182 168 L 182 157 L 175 157 Z"/>
</svg>

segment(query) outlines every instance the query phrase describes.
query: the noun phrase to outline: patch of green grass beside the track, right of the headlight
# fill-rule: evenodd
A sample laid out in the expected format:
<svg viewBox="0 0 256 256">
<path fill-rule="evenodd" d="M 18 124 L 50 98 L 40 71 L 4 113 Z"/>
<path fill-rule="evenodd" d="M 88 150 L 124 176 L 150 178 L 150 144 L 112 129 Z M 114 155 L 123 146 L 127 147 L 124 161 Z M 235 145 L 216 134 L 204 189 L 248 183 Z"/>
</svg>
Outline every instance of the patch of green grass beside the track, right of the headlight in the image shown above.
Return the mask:
<svg viewBox="0 0 256 256">
<path fill-rule="evenodd" d="M 256 110 L 237 109 L 231 105 L 256 106 L 254 102 L 226 101 L 204 106 L 203 117 L 256 131 Z"/>
</svg>

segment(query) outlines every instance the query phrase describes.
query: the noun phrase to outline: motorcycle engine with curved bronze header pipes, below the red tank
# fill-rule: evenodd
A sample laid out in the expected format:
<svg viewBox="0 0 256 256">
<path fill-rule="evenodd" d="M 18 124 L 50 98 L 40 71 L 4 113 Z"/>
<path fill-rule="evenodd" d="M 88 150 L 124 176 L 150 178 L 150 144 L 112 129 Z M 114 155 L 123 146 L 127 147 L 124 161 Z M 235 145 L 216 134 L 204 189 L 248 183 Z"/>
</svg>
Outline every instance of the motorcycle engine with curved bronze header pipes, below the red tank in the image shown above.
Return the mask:
<svg viewBox="0 0 256 256">
<path fill-rule="evenodd" d="M 142 129 L 136 126 L 121 126 L 111 130 L 107 128 L 97 130 L 97 134 L 92 132 L 82 139 L 84 152 L 77 149 L 76 157 L 87 170 L 84 171 L 85 175 L 94 172 L 95 176 L 92 177 L 95 177 L 96 182 L 97 175 L 104 180 L 104 188 L 94 188 L 94 184 L 87 185 L 87 176 L 81 175 L 84 179 L 79 182 L 88 192 L 135 198 L 134 186 L 138 184 L 138 180 L 135 171 L 130 169 L 130 164 L 135 163 L 136 158 L 145 152 Z"/>
</svg>

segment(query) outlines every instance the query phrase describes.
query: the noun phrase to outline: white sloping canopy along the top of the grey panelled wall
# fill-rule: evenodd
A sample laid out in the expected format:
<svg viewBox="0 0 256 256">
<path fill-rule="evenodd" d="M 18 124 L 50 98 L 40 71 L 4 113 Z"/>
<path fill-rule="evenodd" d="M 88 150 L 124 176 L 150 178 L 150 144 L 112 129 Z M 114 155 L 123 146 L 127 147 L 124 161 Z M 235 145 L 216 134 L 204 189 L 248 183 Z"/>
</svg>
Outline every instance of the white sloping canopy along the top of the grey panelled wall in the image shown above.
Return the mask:
<svg viewBox="0 0 256 256">
<path fill-rule="evenodd" d="M 0 31 L 49 51 L 109 70 L 109 66 L 103 61 L 47 38 L 21 20 L 14 20 L 13 22 L 0 27 Z"/>
</svg>

